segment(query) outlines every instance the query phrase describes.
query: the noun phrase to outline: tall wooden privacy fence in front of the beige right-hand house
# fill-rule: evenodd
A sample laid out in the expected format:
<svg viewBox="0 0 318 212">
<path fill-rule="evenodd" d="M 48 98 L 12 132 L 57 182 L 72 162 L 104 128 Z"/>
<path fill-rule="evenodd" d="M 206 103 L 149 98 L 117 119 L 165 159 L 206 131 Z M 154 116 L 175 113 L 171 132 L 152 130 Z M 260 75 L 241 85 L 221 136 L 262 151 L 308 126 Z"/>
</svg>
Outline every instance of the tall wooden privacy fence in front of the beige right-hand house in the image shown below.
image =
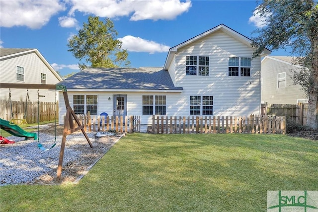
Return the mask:
<svg viewBox="0 0 318 212">
<path fill-rule="evenodd" d="M 307 121 L 308 104 L 261 104 L 261 115 L 277 115 L 292 118 L 296 123 L 302 125 Z"/>
</svg>

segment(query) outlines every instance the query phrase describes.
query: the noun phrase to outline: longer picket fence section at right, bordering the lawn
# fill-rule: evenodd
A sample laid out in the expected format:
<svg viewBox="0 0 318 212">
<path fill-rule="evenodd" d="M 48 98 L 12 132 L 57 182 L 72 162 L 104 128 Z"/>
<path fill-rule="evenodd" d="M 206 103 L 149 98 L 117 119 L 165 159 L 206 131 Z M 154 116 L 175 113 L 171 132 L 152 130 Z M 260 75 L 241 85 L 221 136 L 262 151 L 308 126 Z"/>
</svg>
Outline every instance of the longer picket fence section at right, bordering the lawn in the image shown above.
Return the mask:
<svg viewBox="0 0 318 212">
<path fill-rule="evenodd" d="M 285 116 L 153 116 L 152 133 L 285 134 Z"/>
</svg>

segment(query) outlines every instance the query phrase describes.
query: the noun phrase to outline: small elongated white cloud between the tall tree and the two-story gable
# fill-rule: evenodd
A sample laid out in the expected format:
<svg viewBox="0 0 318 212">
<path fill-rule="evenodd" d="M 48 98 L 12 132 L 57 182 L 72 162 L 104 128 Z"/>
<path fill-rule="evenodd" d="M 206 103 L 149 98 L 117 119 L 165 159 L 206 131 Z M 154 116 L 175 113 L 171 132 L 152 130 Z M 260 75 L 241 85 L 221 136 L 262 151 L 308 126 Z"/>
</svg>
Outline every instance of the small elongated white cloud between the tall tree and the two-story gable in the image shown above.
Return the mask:
<svg viewBox="0 0 318 212">
<path fill-rule="evenodd" d="M 122 48 L 131 52 L 149 52 L 151 54 L 155 52 L 167 52 L 170 47 L 156 43 L 155 41 L 145 40 L 140 37 L 134 37 L 127 35 L 123 38 L 118 38 L 123 44 Z"/>
</svg>

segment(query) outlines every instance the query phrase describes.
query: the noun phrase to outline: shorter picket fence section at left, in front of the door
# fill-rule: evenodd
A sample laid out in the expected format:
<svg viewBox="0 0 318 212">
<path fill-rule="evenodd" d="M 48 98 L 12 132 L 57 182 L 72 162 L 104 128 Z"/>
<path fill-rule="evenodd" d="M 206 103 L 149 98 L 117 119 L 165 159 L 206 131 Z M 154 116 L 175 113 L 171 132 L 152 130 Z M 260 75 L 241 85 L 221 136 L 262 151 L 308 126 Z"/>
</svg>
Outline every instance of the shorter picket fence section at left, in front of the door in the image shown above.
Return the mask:
<svg viewBox="0 0 318 212">
<path fill-rule="evenodd" d="M 84 126 L 86 132 L 91 131 L 116 131 L 116 132 L 140 132 L 140 116 L 100 116 L 81 114 L 77 115 L 79 122 Z M 65 117 L 64 117 L 65 118 Z M 77 126 L 74 120 L 75 126 Z"/>
</svg>

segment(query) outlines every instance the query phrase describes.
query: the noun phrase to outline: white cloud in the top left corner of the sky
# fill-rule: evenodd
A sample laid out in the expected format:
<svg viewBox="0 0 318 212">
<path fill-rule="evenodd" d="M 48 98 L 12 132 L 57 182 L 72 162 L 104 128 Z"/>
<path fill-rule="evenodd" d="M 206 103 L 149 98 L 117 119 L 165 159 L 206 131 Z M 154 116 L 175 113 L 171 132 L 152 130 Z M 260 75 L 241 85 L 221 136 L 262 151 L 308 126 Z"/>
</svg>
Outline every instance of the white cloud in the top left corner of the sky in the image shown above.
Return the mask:
<svg viewBox="0 0 318 212">
<path fill-rule="evenodd" d="M 0 26 L 38 29 L 61 10 L 65 5 L 59 0 L 0 0 Z"/>
</svg>

